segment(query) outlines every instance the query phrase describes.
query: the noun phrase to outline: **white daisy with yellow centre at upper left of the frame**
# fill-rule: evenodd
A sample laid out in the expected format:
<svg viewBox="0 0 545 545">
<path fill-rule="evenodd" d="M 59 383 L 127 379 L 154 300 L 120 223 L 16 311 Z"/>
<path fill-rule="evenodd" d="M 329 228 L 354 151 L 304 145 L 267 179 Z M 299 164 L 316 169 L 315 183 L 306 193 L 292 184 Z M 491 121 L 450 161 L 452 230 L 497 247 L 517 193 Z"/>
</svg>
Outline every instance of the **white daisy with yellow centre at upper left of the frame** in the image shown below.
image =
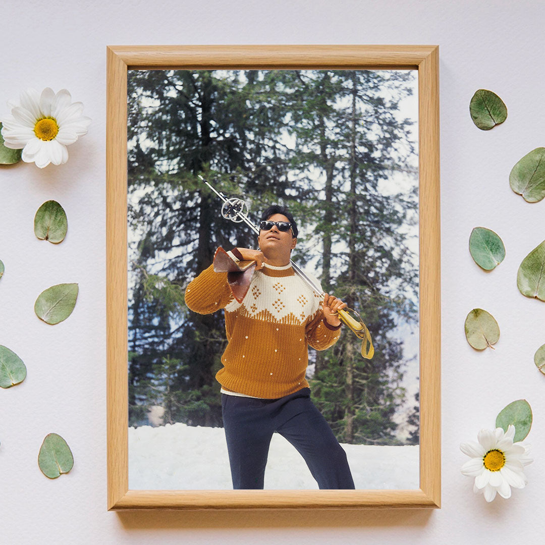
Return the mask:
<svg viewBox="0 0 545 545">
<path fill-rule="evenodd" d="M 20 104 L 8 102 L 10 114 L 2 116 L 4 146 L 22 149 L 22 160 L 44 168 L 68 161 L 66 146 L 87 134 L 90 118 L 82 116 L 83 104 L 71 102 L 70 93 L 57 94 L 46 87 L 41 95 L 34 89 L 21 93 Z"/>
</svg>

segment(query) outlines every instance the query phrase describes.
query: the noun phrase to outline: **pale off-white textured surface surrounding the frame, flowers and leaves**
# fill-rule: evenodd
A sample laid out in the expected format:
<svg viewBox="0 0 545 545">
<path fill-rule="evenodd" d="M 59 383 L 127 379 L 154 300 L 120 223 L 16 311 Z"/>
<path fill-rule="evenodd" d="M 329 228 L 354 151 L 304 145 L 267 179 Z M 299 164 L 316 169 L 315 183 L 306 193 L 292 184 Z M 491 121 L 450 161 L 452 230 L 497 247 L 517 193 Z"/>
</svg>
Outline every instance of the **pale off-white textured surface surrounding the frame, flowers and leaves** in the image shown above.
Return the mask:
<svg viewBox="0 0 545 545">
<path fill-rule="evenodd" d="M 431 0 L 217 0 L 4 2 L 0 109 L 27 87 L 68 88 L 93 118 L 68 164 L 0 169 L 0 344 L 29 373 L 0 391 L 2 543 L 537 543 L 545 485 L 545 387 L 535 350 L 545 343 L 545 306 L 517 290 L 517 269 L 545 239 L 545 201 L 528 204 L 508 184 L 512 166 L 543 146 L 545 4 Z M 439 44 L 443 306 L 443 508 L 367 512 L 113 513 L 106 511 L 105 74 L 106 45 Z M 492 89 L 504 125 L 477 129 L 469 100 Z M 61 202 L 63 244 L 38 241 L 33 217 Z M 507 257 L 492 274 L 468 252 L 471 229 L 500 234 Z M 52 328 L 33 304 L 41 290 L 78 282 L 70 319 Z M 476 353 L 464 319 L 481 307 L 498 320 L 496 350 Z M 529 484 L 486 504 L 459 468 L 462 441 L 492 427 L 498 411 L 526 398 L 535 462 Z M 48 432 L 65 437 L 76 465 L 46 479 L 37 453 Z"/>
</svg>

